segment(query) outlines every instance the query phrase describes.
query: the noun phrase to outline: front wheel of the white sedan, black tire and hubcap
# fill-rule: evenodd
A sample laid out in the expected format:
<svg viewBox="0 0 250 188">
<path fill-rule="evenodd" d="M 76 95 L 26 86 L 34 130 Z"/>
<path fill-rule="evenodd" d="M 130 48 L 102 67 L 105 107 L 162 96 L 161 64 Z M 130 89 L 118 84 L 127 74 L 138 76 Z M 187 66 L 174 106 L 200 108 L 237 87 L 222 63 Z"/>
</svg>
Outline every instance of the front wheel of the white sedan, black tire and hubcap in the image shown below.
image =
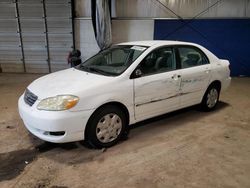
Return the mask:
<svg viewBox="0 0 250 188">
<path fill-rule="evenodd" d="M 123 137 L 127 127 L 124 112 L 114 105 L 103 106 L 90 117 L 86 140 L 93 148 L 111 147 Z"/>
</svg>

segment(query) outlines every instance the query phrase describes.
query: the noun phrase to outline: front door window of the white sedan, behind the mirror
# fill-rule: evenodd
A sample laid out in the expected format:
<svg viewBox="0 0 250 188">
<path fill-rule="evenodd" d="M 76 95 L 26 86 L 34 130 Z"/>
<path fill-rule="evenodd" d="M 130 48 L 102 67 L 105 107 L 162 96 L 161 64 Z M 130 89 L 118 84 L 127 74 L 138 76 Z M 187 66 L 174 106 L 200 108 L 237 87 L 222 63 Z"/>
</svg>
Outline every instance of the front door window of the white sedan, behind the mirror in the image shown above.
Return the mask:
<svg viewBox="0 0 250 188">
<path fill-rule="evenodd" d="M 142 75 L 151 75 L 176 69 L 175 55 L 170 47 L 156 49 L 149 53 L 138 68 Z"/>
</svg>

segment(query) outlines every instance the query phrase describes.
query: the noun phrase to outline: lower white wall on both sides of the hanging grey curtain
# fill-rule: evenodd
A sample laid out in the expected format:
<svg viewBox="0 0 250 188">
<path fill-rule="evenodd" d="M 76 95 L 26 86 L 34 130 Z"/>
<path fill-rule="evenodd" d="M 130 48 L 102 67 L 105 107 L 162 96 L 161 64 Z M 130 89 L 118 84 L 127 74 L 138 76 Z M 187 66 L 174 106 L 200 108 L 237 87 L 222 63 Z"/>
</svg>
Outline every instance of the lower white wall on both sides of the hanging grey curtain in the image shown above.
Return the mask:
<svg viewBox="0 0 250 188">
<path fill-rule="evenodd" d="M 112 20 L 113 44 L 136 40 L 152 40 L 154 20 Z M 82 52 L 83 60 L 99 51 L 96 43 L 92 21 L 75 20 L 76 48 Z"/>
</svg>

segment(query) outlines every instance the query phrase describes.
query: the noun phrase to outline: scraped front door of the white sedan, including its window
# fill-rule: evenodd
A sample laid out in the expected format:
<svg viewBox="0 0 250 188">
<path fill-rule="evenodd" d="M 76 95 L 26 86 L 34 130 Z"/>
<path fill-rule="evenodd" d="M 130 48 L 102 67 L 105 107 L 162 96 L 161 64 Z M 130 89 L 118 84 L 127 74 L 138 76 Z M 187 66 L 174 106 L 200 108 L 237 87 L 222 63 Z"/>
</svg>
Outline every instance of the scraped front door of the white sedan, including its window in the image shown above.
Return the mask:
<svg viewBox="0 0 250 188">
<path fill-rule="evenodd" d="M 136 70 L 134 79 L 136 120 L 143 120 L 177 109 L 180 105 L 180 70 L 176 69 L 173 49 L 162 47 L 151 52 Z"/>
</svg>

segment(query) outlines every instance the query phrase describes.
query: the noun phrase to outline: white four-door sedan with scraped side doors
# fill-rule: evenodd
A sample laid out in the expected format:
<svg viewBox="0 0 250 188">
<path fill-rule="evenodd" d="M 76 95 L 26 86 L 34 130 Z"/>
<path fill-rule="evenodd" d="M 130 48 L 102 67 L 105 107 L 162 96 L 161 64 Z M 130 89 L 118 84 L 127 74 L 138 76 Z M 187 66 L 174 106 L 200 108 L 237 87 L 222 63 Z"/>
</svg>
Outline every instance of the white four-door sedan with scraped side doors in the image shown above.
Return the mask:
<svg viewBox="0 0 250 188">
<path fill-rule="evenodd" d="M 42 140 L 110 147 L 136 122 L 195 104 L 213 110 L 230 81 L 229 62 L 200 45 L 128 42 L 35 80 L 18 106 Z"/>
</svg>

